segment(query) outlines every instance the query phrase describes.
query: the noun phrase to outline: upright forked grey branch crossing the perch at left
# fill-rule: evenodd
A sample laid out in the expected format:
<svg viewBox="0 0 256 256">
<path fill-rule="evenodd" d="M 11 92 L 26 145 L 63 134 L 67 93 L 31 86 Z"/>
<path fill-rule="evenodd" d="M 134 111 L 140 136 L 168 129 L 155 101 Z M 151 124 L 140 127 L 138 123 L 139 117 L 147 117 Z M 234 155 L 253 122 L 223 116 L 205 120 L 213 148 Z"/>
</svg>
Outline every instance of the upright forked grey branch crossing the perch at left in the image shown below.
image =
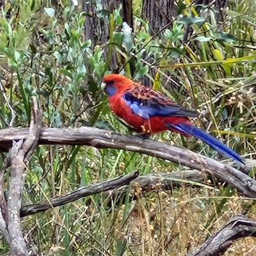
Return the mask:
<svg viewBox="0 0 256 256">
<path fill-rule="evenodd" d="M 10 248 L 13 255 L 28 255 L 26 243 L 22 236 L 20 227 L 20 208 L 21 196 L 24 186 L 24 174 L 26 173 L 26 162 L 37 145 L 40 134 L 42 115 L 38 111 L 35 97 L 32 98 L 32 115 L 28 132 L 28 138 L 13 141 L 13 147 L 10 151 L 11 175 L 9 184 L 9 196 L 7 200 L 8 210 L 8 232 L 10 239 Z"/>
</svg>

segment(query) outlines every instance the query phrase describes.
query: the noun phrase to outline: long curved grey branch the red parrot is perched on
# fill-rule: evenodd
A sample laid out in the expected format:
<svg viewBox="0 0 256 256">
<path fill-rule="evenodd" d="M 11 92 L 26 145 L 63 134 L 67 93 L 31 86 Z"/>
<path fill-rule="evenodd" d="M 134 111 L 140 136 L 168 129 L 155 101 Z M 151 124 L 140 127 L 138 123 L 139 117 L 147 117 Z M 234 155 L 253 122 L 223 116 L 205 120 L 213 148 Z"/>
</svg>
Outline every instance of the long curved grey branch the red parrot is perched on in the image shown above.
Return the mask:
<svg viewBox="0 0 256 256">
<path fill-rule="evenodd" d="M 28 135 L 27 128 L 10 128 L 0 131 L 1 147 L 10 147 L 12 140 Z M 174 163 L 200 170 L 217 179 L 231 184 L 245 196 L 256 197 L 256 181 L 243 172 L 220 163 L 212 158 L 196 154 L 186 148 L 179 148 L 167 143 L 142 140 L 138 136 L 122 135 L 93 127 L 44 128 L 40 133 L 40 144 L 90 145 L 96 148 L 124 149 L 148 156 L 155 156 Z M 248 173 L 248 170 L 243 170 Z"/>
</svg>

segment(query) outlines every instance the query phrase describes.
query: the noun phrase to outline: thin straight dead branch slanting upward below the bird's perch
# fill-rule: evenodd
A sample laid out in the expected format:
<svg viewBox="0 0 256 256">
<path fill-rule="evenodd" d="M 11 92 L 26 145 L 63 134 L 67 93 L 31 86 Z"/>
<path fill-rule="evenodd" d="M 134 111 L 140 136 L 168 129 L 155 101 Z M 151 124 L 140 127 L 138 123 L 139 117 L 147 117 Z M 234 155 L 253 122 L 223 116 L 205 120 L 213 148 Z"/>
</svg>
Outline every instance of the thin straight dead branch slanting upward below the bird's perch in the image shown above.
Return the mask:
<svg viewBox="0 0 256 256">
<path fill-rule="evenodd" d="M 78 188 L 70 193 L 65 193 L 60 196 L 52 197 L 49 202 L 41 202 L 38 204 L 31 204 L 22 207 L 20 211 L 20 216 L 28 216 L 30 214 L 35 214 L 37 212 L 46 211 L 47 209 L 57 207 L 63 204 L 68 204 L 74 202 L 85 196 L 95 195 L 97 193 L 118 188 L 120 186 L 128 185 L 131 180 L 138 177 L 138 172 L 132 172 L 126 175 L 122 175 L 116 179 L 106 180 L 104 182 L 99 182 L 97 184 L 90 184 L 82 188 Z"/>
</svg>

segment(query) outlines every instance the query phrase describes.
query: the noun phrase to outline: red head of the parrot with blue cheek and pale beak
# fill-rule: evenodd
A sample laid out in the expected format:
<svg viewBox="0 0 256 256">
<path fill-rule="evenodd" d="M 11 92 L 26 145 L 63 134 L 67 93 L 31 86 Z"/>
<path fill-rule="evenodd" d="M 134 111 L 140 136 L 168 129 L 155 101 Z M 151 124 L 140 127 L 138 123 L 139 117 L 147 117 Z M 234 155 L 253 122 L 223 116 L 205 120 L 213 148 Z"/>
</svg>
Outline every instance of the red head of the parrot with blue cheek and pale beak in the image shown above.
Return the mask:
<svg viewBox="0 0 256 256">
<path fill-rule="evenodd" d="M 132 80 L 118 74 L 109 74 L 103 77 L 102 89 L 109 97 L 115 95 L 117 92 L 123 92 L 132 85 Z"/>
</svg>

